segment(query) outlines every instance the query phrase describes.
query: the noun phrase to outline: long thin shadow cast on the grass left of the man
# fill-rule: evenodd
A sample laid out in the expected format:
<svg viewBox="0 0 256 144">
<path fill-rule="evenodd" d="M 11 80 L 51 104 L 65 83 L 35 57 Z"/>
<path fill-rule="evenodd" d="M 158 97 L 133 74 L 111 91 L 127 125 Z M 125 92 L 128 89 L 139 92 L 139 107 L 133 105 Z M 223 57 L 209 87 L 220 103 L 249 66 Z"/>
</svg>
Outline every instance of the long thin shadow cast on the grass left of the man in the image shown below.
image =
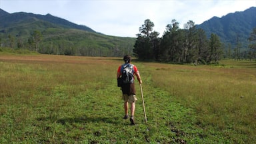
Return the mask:
<svg viewBox="0 0 256 144">
<path fill-rule="evenodd" d="M 61 119 L 56 119 L 57 123 L 61 123 L 64 125 L 65 123 L 111 123 L 111 124 L 119 124 L 119 117 L 64 117 Z M 38 117 L 37 121 L 54 121 L 53 117 Z"/>
</svg>

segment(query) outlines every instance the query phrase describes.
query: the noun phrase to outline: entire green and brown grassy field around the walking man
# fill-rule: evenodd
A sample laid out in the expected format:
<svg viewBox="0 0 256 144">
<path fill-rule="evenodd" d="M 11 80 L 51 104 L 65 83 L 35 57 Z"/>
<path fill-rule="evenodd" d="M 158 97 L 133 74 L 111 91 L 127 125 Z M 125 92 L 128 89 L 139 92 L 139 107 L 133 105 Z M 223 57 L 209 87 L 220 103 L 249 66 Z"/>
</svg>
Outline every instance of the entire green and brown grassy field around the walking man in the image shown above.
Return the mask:
<svg viewBox="0 0 256 144">
<path fill-rule="evenodd" d="M 256 63 L 133 61 L 135 122 L 123 120 L 121 58 L 0 53 L 0 143 L 252 143 Z"/>
</svg>

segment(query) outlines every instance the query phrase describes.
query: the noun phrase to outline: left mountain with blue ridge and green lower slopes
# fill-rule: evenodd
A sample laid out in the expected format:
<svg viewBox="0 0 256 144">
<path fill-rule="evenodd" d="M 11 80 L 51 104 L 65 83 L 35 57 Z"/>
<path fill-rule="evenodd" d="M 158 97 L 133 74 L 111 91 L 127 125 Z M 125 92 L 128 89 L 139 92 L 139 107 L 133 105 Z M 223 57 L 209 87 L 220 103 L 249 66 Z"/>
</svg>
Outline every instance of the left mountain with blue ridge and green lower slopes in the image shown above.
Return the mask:
<svg viewBox="0 0 256 144">
<path fill-rule="evenodd" d="M 42 36 L 38 51 L 57 55 L 122 57 L 132 53 L 136 40 L 104 35 L 51 14 L 7 13 L 0 9 L 1 47 L 34 49 L 35 31 Z"/>
</svg>

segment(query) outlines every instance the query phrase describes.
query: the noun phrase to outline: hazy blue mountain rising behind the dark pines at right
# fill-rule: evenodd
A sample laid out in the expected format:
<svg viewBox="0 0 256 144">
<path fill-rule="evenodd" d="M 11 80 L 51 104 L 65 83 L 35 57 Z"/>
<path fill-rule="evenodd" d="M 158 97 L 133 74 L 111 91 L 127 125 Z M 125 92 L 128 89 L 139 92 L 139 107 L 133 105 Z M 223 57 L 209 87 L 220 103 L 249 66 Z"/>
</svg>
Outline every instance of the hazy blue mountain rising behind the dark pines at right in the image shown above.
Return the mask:
<svg viewBox="0 0 256 144">
<path fill-rule="evenodd" d="M 247 47 L 247 39 L 256 27 L 256 7 L 229 13 L 221 18 L 212 17 L 196 27 L 203 29 L 208 37 L 211 33 L 217 34 L 223 43 L 231 43 L 233 47 L 237 43 Z"/>
</svg>

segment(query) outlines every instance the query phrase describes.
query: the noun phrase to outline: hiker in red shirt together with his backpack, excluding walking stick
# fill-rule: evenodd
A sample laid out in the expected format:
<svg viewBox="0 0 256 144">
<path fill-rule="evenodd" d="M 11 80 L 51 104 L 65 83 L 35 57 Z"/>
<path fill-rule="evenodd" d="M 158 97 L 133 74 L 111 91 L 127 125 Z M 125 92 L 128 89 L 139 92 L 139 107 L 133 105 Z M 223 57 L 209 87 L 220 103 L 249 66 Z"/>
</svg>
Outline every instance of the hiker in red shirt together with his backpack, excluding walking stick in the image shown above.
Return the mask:
<svg viewBox="0 0 256 144">
<path fill-rule="evenodd" d="M 135 84 L 134 84 L 134 75 L 136 75 L 137 80 L 141 84 L 141 76 L 139 75 L 139 71 L 137 67 L 131 64 L 131 56 L 125 55 L 123 57 L 125 63 L 120 65 L 117 70 L 117 81 L 121 82 L 122 93 L 123 93 L 123 106 L 125 108 L 125 116 L 123 119 L 128 119 L 128 109 L 130 103 L 130 110 L 131 110 L 131 125 L 135 125 L 134 121 L 134 113 L 135 113 L 135 102 L 137 101 L 137 97 L 135 95 Z"/>
</svg>

